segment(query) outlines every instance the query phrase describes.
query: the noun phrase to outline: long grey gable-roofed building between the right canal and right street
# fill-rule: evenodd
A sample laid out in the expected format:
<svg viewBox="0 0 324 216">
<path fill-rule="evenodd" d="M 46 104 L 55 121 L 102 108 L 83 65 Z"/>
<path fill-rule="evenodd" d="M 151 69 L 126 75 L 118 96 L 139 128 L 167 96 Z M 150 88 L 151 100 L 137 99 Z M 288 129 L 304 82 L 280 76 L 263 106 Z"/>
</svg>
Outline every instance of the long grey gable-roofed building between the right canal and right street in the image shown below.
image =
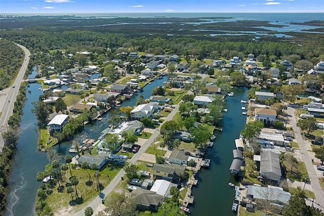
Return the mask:
<svg viewBox="0 0 324 216">
<path fill-rule="evenodd" d="M 260 157 L 260 176 L 264 178 L 264 182 L 270 181 L 279 185 L 281 178 L 279 155 L 272 151 L 262 151 Z"/>
</svg>

